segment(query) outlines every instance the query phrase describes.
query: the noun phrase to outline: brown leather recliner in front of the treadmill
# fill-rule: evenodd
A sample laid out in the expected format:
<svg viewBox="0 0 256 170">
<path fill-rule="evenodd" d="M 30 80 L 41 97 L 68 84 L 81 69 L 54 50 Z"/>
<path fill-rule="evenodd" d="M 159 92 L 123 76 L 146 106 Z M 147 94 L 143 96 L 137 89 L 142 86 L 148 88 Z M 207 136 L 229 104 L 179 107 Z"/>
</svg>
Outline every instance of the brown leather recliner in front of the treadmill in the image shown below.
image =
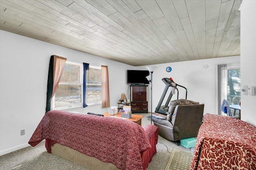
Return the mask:
<svg viewBox="0 0 256 170">
<path fill-rule="evenodd" d="M 203 113 L 204 104 L 179 99 L 170 102 L 167 115 L 152 113 L 152 121 L 160 136 L 180 145 L 181 139 L 197 137 Z"/>
</svg>

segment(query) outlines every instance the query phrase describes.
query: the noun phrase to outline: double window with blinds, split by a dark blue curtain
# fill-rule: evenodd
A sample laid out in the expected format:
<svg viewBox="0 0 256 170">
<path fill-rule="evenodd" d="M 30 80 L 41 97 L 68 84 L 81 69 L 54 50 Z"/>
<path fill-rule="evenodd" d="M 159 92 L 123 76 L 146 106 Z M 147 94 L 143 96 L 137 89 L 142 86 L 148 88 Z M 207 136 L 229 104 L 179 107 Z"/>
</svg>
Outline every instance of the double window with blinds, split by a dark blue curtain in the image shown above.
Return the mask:
<svg viewBox="0 0 256 170">
<path fill-rule="evenodd" d="M 58 88 L 52 98 L 52 107 L 82 106 L 83 65 L 66 62 Z M 101 102 L 101 67 L 89 66 L 86 71 L 86 104 Z"/>
</svg>

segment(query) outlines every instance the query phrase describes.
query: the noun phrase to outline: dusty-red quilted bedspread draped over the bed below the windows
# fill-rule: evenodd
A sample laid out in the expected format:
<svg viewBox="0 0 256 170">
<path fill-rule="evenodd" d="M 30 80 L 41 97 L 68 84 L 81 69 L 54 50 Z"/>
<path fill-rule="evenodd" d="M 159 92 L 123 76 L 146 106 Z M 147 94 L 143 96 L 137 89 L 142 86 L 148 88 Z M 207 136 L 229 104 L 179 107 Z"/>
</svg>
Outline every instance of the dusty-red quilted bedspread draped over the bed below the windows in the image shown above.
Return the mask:
<svg viewBox="0 0 256 170">
<path fill-rule="evenodd" d="M 154 125 L 145 128 L 147 134 L 158 135 Z M 28 143 L 34 147 L 43 139 L 57 141 L 123 170 L 142 170 L 141 153 L 151 148 L 144 129 L 132 121 L 59 110 L 44 115 Z"/>
</svg>

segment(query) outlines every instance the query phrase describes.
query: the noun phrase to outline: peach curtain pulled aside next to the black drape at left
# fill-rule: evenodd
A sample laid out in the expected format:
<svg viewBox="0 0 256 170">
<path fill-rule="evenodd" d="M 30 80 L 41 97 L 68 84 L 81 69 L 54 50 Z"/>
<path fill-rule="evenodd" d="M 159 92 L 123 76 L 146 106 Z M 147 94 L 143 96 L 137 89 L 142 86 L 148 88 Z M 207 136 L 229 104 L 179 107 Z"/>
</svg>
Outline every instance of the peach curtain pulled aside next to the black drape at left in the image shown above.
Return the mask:
<svg viewBox="0 0 256 170">
<path fill-rule="evenodd" d="M 57 55 L 54 55 L 54 66 L 53 66 L 53 89 L 52 89 L 52 97 L 54 96 L 56 89 L 58 87 L 58 84 L 60 82 L 60 78 L 63 73 L 63 68 L 66 63 L 66 58 L 59 57 Z"/>
</svg>

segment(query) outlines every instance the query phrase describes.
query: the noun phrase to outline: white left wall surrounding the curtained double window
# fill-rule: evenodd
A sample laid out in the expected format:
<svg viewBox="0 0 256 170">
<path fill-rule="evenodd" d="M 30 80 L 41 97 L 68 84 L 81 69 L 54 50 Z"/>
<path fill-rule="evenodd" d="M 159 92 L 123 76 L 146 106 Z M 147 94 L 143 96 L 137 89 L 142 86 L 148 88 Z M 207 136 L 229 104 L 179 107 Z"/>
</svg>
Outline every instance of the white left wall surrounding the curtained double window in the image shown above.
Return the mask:
<svg viewBox="0 0 256 170">
<path fill-rule="evenodd" d="M 121 93 L 127 92 L 126 70 L 134 69 L 134 66 L 2 30 L 0 49 L 0 155 L 27 147 L 44 116 L 51 55 L 65 57 L 67 61 L 108 66 L 110 106 L 116 106 Z M 108 109 L 95 105 L 72 111 L 104 113 Z M 22 129 L 25 135 L 20 136 Z"/>
</svg>

